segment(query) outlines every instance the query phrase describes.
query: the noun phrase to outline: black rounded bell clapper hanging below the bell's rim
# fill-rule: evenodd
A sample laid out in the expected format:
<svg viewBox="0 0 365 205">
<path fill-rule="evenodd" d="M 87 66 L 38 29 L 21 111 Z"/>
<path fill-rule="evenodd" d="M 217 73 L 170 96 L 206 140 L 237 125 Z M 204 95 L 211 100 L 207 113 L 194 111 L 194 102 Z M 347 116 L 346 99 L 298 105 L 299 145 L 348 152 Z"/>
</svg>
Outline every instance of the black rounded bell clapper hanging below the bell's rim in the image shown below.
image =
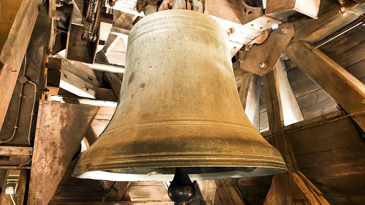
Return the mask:
<svg viewBox="0 0 365 205">
<path fill-rule="evenodd" d="M 176 167 L 175 175 L 168 186 L 168 197 L 175 204 L 189 202 L 195 196 L 195 187 L 183 167 Z"/>
</svg>

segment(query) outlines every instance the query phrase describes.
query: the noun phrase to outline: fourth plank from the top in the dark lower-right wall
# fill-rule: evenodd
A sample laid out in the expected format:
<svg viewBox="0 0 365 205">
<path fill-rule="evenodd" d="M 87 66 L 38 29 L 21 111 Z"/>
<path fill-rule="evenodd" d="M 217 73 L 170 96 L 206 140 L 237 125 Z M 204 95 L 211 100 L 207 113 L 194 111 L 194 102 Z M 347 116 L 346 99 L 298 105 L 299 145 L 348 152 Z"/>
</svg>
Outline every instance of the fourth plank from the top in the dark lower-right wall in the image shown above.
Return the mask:
<svg viewBox="0 0 365 205">
<path fill-rule="evenodd" d="M 365 174 L 310 179 L 326 195 L 363 196 Z"/>
</svg>

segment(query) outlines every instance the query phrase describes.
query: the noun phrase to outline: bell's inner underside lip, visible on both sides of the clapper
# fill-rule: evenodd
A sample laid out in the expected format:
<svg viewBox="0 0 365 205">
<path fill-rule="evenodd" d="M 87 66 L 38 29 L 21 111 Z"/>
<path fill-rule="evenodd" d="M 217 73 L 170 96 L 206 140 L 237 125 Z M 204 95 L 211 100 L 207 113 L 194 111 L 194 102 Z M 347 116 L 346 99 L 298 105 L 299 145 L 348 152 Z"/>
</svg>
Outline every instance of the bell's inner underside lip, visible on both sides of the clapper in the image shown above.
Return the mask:
<svg viewBox="0 0 365 205">
<path fill-rule="evenodd" d="M 186 166 L 178 166 L 186 167 Z M 222 166 L 223 167 L 223 166 Z M 252 167 L 252 166 L 244 166 Z M 286 172 L 285 167 L 271 167 L 271 166 L 260 166 L 256 167 L 251 172 L 244 171 L 226 171 L 226 172 L 214 172 L 214 173 L 196 173 L 188 174 L 191 180 L 211 180 L 211 179 L 223 179 L 223 178 L 244 178 L 244 177 L 255 177 L 272 175 Z M 105 170 L 97 171 L 86 171 L 82 173 L 72 172 L 71 174 L 76 178 L 88 178 L 96 180 L 111 180 L 111 181 L 171 181 L 174 173 L 169 174 L 130 174 L 130 173 L 117 173 Z"/>
</svg>

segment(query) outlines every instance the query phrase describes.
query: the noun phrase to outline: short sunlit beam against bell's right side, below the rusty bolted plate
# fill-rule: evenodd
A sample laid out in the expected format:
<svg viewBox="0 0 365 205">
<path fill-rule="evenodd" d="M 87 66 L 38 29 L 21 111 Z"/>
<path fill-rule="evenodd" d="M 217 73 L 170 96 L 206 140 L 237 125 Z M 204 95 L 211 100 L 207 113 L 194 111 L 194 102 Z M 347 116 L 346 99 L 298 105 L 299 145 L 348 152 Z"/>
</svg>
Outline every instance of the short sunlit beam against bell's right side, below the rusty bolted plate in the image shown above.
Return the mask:
<svg viewBox="0 0 365 205">
<path fill-rule="evenodd" d="M 257 130 L 260 128 L 260 84 L 261 80 L 258 75 L 245 72 L 239 88 L 239 97 L 241 98 L 243 109 Z"/>
</svg>

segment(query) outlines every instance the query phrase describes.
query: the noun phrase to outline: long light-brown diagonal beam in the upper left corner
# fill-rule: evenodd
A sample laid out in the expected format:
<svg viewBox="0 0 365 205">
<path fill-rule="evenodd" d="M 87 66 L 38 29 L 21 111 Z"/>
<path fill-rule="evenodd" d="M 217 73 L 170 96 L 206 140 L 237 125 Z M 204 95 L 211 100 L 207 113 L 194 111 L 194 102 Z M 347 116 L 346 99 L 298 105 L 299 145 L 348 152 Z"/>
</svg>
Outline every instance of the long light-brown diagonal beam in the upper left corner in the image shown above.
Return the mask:
<svg viewBox="0 0 365 205">
<path fill-rule="evenodd" d="M 7 16 L 14 18 L 14 22 L 0 51 L 0 127 L 15 87 L 20 65 L 38 15 L 40 2 L 41 0 L 22 0 L 16 15 L 11 13 L 10 16 Z M 4 16 L 3 9 L 1 15 Z M 4 30 L 0 32 L 2 33 Z"/>
</svg>

